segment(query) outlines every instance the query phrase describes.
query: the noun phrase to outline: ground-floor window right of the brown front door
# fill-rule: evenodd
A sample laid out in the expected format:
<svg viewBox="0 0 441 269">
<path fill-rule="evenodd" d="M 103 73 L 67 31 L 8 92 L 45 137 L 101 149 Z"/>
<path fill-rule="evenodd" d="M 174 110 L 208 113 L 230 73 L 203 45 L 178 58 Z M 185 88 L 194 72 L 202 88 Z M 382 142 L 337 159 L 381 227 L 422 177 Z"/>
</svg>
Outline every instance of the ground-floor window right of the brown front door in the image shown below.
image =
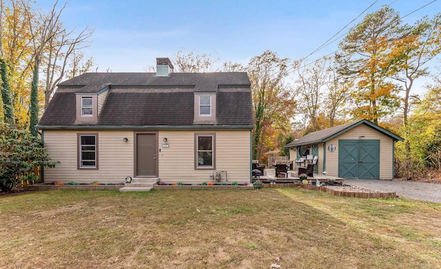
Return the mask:
<svg viewBox="0 0 441 269">
<path fill-rule="evenodd" d="M 214 134 L 196 134 L 196 168 L 213 169 L 215 167 Z"/>
</svg>

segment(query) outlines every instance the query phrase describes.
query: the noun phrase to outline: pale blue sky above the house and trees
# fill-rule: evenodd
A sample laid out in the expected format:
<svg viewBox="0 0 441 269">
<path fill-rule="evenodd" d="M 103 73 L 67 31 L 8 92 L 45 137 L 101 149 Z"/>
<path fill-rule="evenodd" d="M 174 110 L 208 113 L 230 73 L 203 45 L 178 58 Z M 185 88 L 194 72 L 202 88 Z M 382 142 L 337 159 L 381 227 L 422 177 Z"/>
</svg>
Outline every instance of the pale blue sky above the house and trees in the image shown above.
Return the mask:
<svg viewBox="0 0 441 269">
<path fill-rule="evenodd" d="M 156 57 L 170 57 L 185 48 L 212 54 L 220 63 L 246 65 L 253 56 L 272 50 L 292 60 L 316 50 L 351 20 L 389 4 L 401 16 L 432 0 L 278 0 L 278 1 L 142 1 L 70 0 L 62 21 L 68 29 L 88 26 L 99 72 L 145 72 Z M 54 1 L 37 1 L 48 9 Z M 404 21 L 441 12 L 440 1 L 422 8 Z M 360 22 L 363 14 L 350 26 Z M 346 33 L 349 27 L 342 31 Z M 314 61 L 338 50 L 338 41 L 309 56 Z"/>
</svg>

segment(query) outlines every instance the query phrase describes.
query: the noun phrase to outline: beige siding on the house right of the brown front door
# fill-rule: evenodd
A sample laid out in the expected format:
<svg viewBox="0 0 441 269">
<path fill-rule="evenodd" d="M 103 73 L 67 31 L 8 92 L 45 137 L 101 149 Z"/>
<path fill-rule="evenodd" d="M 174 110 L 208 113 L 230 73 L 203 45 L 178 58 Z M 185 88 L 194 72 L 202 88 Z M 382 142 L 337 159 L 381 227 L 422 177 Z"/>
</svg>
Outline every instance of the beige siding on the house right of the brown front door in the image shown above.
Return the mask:
<svg viewBox="0 0 441 269">
<path fill-rule="evenodd" d="M 194 133 L 216 133 L 216 169 L 194 168 Z M 163 138 L 169 148 L 163 149 Z M 214 171 L 227 171 L 228 182 L 249 182 L 249 131 L 159 131 L 159 178 L 163 182 L 213 182 Z M 225 174 L 222 175 L 225 180 Z"/>
</svg>

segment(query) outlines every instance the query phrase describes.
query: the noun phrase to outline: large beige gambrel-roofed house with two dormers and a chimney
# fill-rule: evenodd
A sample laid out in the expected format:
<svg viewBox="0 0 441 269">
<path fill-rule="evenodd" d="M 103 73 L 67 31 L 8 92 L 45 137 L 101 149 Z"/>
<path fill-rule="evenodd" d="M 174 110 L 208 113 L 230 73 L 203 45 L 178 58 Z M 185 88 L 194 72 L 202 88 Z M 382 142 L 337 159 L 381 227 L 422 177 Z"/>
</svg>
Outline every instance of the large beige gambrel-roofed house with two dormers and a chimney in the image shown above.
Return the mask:
<svg viewBox="0 0 441 269">
<path fill-rule="evenodd" d="M 59 83 L 37 128 L 45 182 L 251 180 L 252 94 L 245 72 L 86 73 Z"/>
</svg>

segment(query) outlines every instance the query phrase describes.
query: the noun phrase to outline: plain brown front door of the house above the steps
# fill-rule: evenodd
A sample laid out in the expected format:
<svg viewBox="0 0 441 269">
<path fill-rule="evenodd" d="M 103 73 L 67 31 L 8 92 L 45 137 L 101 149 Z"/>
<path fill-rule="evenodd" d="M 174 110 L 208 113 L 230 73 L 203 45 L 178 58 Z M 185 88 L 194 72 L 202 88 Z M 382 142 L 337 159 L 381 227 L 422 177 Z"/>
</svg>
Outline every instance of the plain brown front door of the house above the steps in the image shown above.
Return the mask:
<svg viewBox="0 0 441 269">
<path fill-rule="evenodd" d="M 158 176 L 156 140 L 156 133 L 136 133 L 136 176 Z"/>
</svg>

